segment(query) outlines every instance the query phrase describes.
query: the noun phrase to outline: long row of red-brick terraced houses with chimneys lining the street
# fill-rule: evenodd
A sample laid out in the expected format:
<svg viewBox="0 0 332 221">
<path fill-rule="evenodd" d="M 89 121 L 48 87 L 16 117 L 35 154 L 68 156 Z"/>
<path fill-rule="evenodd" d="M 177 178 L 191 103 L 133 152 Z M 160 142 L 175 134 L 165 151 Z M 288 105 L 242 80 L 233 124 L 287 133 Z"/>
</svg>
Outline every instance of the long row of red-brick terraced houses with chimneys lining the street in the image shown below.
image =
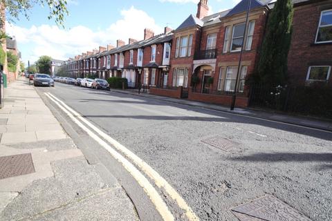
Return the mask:
<svg viewBox="0 0 332 221">
<path fill-rule="evenodd" d="M 246 26 L 248 1 L 208 15 L 208 0 L 201 0 L 196 16 L 187 17 L 176 30 L 165 28 L 164 33 L 154 35 L 146 28 L 141 41 L 129 39 L 126 44 L 118 40 L 116 47 L 100 46 L 69 59 L 66 67 L 73 77 L 125 77 L 129 87 L 142 86 L 151 94 L 224 105 L 230 104 L 237 84 L 236 106 L 246 107 L 250 89 L 245 86 L 246 77 L 255 72 L 275 3 L 252 0 Z M 332 86 L 332 1 L 293 0 L 293 4 L 289 81 L 293 85 L 327 81 Z"/>
</svg>

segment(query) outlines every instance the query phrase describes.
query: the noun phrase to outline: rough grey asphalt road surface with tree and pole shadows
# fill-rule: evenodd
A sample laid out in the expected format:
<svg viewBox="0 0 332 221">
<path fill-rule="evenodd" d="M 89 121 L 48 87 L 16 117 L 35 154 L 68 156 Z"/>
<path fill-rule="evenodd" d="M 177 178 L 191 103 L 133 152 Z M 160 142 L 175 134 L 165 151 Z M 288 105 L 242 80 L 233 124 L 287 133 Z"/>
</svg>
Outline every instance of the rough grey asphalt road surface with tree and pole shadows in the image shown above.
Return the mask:
<svg viewBox="0 0 332 221">
<path fill-rule="evenodd" d="M 60 83 L 37 90 L 52 93 L 136 153 L 201 220 L 237 220 L 230 209 L 266 194 L 311 220 L 332 220 L 331 132 Z M 122 166 L 66 121 L 89 144 L 86 153 L 124 186 L 140 218 L 160 219 Z M 180 209 L 163 195 L 182 220 Z"/>
</svg>

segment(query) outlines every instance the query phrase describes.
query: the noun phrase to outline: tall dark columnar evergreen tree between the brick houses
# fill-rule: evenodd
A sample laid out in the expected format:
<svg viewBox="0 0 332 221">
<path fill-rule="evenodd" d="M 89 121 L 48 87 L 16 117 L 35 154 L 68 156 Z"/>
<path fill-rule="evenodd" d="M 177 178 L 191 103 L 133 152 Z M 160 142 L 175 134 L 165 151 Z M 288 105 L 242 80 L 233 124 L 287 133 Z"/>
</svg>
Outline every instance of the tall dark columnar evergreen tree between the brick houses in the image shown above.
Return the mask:
<svg viewBox="0 0 332 221">
<path fill-rule="evenodd" d="M 293 5 L 291 0 L 275 3 L 266 26 L 259 55 L 259 81 L 269 86 L 284 85 L 287 81 L 287 59 L 291 46 Z"/>
</svg>

